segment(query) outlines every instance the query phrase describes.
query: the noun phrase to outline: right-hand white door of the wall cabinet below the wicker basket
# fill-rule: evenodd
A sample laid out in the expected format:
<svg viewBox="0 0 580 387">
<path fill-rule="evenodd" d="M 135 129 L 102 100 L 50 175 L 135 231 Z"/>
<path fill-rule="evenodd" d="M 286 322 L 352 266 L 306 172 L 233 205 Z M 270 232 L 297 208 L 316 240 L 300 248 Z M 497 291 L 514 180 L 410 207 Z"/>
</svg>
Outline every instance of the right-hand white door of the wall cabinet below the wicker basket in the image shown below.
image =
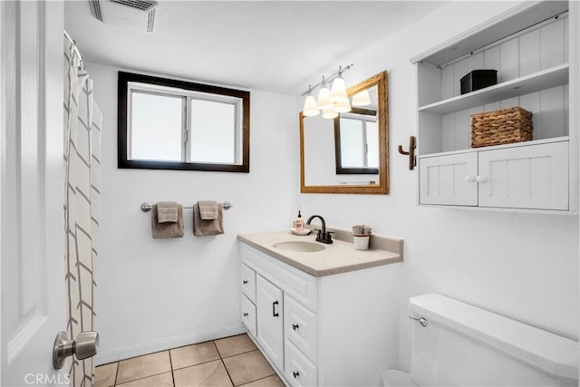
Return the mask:
<svg viewBox="0 0 580 387">
<path fill-rule="evenodd" d="M 481 150 L 480 207 L 568 209 L 568 142 Z"/>
</svg>

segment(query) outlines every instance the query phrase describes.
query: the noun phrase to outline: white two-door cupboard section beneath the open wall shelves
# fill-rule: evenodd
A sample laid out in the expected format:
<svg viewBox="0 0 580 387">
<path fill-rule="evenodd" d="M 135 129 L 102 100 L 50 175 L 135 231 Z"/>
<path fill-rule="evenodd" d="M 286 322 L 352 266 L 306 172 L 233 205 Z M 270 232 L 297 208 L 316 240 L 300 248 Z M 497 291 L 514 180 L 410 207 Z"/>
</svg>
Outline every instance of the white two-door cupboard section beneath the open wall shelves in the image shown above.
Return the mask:
<svg viewBox="0 0 580 387">
<path fill-rule="evenodd" d="M 568 140 L 420 159 L 420 203 L 568 209 Z"/>
</svg>

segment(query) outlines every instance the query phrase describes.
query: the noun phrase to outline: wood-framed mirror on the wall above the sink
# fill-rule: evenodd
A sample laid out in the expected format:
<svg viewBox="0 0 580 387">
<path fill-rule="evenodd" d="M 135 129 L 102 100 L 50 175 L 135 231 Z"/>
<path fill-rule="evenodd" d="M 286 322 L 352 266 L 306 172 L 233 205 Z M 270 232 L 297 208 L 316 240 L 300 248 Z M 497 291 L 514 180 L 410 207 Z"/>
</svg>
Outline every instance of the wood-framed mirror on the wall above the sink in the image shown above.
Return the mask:
<svg viewBox="0 0 580 387">
<path fill-rule="evenodd" d="M 300 112 L 302 193 L 389 194 L 387 72 L 347 90 L 367 91 L 371 104 L 333 120 Z"/>
</svg>

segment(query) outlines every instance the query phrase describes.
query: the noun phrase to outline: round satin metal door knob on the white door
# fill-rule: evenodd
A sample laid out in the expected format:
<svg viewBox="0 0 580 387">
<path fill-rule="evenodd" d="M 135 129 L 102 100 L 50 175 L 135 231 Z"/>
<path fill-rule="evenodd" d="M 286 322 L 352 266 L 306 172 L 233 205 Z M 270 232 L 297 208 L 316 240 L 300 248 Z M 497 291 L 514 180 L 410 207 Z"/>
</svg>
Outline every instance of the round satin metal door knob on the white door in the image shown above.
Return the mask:
<svg viewBox="0 0 580 387">
<path fill-rule="evenodd" d="M 69 340 L 66 332 L 59 332 L 54 339 L 53 367 L 55 370 L 63 368 L 64 361 L 74 353 L 78 360 L 94 356 L 99 350 L 99 333 L 81 332 L 76 340 Z"/>
</svg>

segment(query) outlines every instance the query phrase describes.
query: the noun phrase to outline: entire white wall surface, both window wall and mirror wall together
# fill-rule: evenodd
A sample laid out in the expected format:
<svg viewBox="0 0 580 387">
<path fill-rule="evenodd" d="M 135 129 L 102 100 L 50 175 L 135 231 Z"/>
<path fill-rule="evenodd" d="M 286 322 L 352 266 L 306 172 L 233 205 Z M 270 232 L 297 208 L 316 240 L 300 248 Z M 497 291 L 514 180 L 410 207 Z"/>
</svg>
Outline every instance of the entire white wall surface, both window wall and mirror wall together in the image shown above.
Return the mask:
<svg viewBox="0 0 580 387">
<path fill-rule="evenodd" d="M 416 73 L 409 58 L 507 10 L 509 2 L 450 2 L 380 46 L 341 60 L 349 84 L 389 72 L 391 195 L 296 194 L 295 97 L 252 91 L 251 173 L 117 169 L 117 69 L 88 64 L 104 114 L 101 254 L 97 262 L 98 363 L 241 330 L 238 233 L 285 229 L 299 207 L 327 224 L 365 223 L 405 240 L 400 368 L 409 368 L 408 298 L 426 292 L 577 338 L 578 218 L 416 206 L 417 170 L 397 153 L 416 134 Z M 160 69 L 160 73 L 162 69 Z M 315 75 L 315 74 L 314 74 Z M 294 106 L 294 109 L 288 109 Z M 577 129 L 576 129 L 577 130 Z M 229 200 L 226 234 L 150 238 L 140 203 Z"/>
</svg>

